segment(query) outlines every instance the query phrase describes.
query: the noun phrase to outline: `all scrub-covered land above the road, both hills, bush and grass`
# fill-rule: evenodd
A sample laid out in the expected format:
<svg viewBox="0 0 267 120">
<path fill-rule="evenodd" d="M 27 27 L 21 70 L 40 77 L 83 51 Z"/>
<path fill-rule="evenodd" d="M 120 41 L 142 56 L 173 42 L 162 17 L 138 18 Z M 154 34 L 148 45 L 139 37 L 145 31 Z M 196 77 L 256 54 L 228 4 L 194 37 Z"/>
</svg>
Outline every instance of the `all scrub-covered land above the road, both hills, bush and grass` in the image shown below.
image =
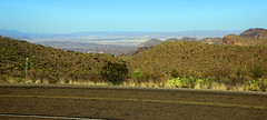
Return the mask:
<svg viewBox="0 0 267 120">
<path fill-rule="evenodd" d="M 4 37 L 0 37 L 0 82 L 267 90 L 265 46 L 167 41 L 123 57 L 125 61 L 109 54 L 65 51 Z"/>
</svg>

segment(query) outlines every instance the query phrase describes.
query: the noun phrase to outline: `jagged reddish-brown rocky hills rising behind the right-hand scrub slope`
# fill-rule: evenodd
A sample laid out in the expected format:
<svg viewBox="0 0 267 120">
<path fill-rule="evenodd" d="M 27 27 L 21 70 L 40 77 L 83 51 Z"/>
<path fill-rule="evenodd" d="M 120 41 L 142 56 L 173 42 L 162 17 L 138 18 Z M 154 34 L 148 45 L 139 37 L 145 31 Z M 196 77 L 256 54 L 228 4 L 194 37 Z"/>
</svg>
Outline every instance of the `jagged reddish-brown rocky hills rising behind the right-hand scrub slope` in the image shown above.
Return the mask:
<svg viewBox="0 0 267 120">
<path fill-rule="evenodd" d="M 165 42 L 167 41 L 198 41 L 208 44 L 233 44 L 233 46 L 267 46 L 267 29 L 263 28 L 248 29 L 241 32 L 239 36 L 228 34 L 225 36 L 224 38 L 216 37 L 197 40 L 197 38 L 182 37 L 181 39 L 169 38 L 165 40 Z M 151 39 L 137 46 L 137 48 L 134 51 L 128 53 L 121 53 L 120 56 L 138 54 L 139 52 L 150 49 L 154 46 L 161 44 L 161 42 L 164 41 L 158 39 Z"/>
</svg>

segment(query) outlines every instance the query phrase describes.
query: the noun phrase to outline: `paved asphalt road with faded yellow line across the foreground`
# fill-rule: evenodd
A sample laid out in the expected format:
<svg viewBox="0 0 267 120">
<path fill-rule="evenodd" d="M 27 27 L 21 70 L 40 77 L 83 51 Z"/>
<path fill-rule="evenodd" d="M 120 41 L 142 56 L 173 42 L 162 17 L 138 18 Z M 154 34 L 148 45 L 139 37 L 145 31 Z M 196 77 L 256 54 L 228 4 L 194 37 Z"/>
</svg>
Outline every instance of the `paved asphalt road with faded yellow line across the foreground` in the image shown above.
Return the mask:
<svg viewBox="0 0 267 120">
<path fill-rule="evenodd" d="M 0 86 L 0 119 L 264 120 L 267 93 L 71 86 Z"/>
</svg>

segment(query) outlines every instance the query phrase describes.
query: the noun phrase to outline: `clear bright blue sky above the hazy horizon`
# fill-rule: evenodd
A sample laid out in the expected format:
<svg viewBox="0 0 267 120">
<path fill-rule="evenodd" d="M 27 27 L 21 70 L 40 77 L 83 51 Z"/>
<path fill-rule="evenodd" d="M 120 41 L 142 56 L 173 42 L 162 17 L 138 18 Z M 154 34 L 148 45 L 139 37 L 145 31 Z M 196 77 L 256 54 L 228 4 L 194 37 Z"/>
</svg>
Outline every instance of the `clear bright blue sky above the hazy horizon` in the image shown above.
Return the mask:
<svg viewBox="0 0 267 120">
<path fill-rule="evenodd" d="M 0 0 L 0 29 L 36 33 L 267 28 L 267 0 Z"/>
</svg>

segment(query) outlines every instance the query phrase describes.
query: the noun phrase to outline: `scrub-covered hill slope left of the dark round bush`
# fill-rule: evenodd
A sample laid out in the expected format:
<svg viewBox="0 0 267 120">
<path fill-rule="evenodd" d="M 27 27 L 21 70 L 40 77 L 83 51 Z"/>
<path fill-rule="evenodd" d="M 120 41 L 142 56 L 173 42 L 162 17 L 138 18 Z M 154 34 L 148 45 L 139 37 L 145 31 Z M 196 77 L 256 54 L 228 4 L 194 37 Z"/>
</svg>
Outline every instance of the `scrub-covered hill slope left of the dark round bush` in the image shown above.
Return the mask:
<svg viewBox="0 0 267 120">
<path fill-rule="evenodd" d="M 108 54 L 78 53 L 0 37 L 0 80 L 24 78 L 29 58 L 29 78 L 59 80 L 101 80 L 100 69 L 106 61 L 121 62 Z"/>
</svg>

